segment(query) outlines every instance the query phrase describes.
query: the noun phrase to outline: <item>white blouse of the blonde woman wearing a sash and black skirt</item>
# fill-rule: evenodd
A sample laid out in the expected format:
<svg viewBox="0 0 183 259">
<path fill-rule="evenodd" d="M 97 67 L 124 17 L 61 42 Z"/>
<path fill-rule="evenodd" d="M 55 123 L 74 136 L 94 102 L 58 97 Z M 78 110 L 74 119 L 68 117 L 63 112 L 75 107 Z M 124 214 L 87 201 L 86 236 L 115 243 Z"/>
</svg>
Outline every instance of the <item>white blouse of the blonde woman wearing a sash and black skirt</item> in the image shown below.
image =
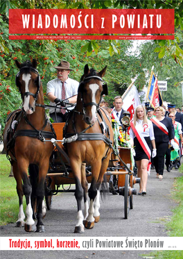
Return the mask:
<svg viewBox="0 0 183 259">
<path fill-rule="evenodd" d="M 150 137 L 150 140 L 155 140 L 153 122 L 151 122 L 149 119 L 147 124 L 143 124 L 143 120 L 138 119 L 135 128 L 137 129 L 137 132 L 143 135 L 143 137 Z M 130 128 L 130 138 L 134 139 L 134 137 L 136 137 L 136 135 L 132 131 L 132 128 Z"/>
</svg>

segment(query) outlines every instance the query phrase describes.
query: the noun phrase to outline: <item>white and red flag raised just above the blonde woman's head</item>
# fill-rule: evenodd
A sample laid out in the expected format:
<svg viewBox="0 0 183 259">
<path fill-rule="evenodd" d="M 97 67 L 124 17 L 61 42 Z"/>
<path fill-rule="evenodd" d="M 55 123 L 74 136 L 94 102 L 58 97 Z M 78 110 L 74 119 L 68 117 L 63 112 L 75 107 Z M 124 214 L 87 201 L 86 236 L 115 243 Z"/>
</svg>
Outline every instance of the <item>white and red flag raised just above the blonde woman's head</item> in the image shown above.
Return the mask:
<svg viewBox="0 0 183 259">
<path fill-rule="evenodd" d="M 131 120 L 134 115 L 135 108 L 141 104 L 137 87 L 134 85 L 134 82 L 125 91 L 125 93 L 122 96 L 122 99 L 123 99 L 123 110 L 128 110 L 128 112 L 130 112 L 130 120 Z"/>
</svg>

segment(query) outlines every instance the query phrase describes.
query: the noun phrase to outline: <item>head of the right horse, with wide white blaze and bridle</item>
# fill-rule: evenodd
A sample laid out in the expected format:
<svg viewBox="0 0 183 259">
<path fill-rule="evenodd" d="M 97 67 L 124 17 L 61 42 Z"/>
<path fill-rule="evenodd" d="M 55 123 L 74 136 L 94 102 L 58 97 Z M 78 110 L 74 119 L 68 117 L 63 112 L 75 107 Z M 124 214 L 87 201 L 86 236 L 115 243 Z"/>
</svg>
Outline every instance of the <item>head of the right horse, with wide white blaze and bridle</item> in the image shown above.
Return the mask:
<svg viewBox="0 0 183 259">
<path fill-rule="evenodd" d="M 84 120 L 87 124 L 94 124 L 96 122 L 96 112 L 99 108 L 103 94 L 107 95 L 107 83 L 103 81 L 107 66 L 96 72 L 96 70 L 89 69 L 85 65 L 84 74 L 80 79 L 80 86 L 78 88 L 78 96 L 82 101 L 82 110 L 84 113 Z"/>
</svg>

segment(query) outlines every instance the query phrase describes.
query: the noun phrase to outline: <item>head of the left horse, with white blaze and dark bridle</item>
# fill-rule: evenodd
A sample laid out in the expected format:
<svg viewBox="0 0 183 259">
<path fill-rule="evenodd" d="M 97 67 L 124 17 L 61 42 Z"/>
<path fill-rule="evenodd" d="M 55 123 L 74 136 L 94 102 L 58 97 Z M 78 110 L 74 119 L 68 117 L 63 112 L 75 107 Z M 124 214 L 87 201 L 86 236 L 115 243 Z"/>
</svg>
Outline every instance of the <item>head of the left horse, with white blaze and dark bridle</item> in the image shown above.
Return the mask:
<svg viewBox="0 0 183 259">
<path fill-rule="evenodd" d="M 35 103 L 41 85 L 40 74 L 36 69 L 37 61 L 33 59 L 33 62 L 29 60 L 26 60 L 24 63 L 20 63 L 17 60 L 15 62 L 19 68 L 16 76 L 16 85 L 21 93 L 22 107 L 27 115 L 31 115 L 35 111 Z"/>
</svg>

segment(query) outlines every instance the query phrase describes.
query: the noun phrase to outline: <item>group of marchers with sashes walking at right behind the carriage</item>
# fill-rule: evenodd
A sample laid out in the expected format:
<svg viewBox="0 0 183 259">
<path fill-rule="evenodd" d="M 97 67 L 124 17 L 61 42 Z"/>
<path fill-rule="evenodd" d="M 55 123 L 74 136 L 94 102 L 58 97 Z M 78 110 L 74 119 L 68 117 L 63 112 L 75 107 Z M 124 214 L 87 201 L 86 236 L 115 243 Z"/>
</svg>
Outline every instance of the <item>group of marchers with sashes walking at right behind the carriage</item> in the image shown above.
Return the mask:
<svg viewBox="0 0 183 259">
<path fill-rule="evenodd" d="M 115 106 L 113 110 L 116 112 Z M 180 167 L 182 128 L 183 114 L 173 104 L 168 104 L 165 110 L 162 106 L 153 108 L 150 103 L 145 103 L 134 110 L 130 139 L 135 151 L 137 176 L 141 178 L 140 195 L 146 194 L 150 166 L 159 179 L 163 179 L 165 165 L 167 172 Z"/>
</svg>

